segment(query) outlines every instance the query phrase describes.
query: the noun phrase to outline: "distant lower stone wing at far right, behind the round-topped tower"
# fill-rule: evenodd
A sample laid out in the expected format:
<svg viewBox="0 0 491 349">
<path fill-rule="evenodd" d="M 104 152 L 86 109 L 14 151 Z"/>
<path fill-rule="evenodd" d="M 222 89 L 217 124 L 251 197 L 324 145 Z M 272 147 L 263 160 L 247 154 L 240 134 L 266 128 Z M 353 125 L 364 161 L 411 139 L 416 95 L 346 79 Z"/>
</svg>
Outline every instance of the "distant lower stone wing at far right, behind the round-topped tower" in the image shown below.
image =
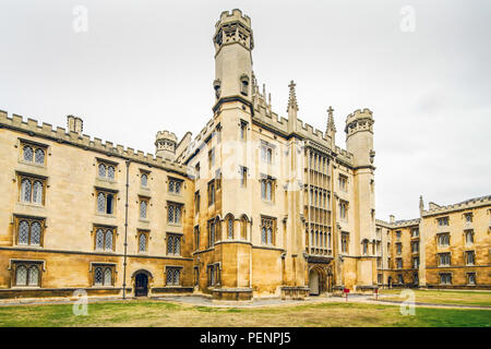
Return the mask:
<svg viewBox="0 0 491 349">
<path fill-rule="evenodd" d="M 491 196 L 454 205 L 420 198 L 420 218 L 376 220 L 383 287 L 491 289 Z"/>
</svg>

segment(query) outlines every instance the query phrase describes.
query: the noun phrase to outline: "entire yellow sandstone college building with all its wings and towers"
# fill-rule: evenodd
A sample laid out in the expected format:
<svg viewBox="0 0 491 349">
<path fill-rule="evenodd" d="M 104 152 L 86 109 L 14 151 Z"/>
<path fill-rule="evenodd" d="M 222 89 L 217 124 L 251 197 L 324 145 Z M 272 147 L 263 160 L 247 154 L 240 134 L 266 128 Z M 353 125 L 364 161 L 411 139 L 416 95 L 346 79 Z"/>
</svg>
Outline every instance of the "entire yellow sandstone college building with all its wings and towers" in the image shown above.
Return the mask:
<svg viewBox="0 0 491 349">
<path fill-rule="evenodd" d="M 157 132 L 155 156 L 75 116 L 53 129 L 0 111 L 0 298 L 490 287 L 489 196 L 376 220 L 372 111 L 346 117 L 342 149 L 333 108 L 324 131 L 298 118 L 294 82 L 273 111 L 249 16 L 221 13 L 213 44 L 211 119 L 195 137 Z"/>
</svg>

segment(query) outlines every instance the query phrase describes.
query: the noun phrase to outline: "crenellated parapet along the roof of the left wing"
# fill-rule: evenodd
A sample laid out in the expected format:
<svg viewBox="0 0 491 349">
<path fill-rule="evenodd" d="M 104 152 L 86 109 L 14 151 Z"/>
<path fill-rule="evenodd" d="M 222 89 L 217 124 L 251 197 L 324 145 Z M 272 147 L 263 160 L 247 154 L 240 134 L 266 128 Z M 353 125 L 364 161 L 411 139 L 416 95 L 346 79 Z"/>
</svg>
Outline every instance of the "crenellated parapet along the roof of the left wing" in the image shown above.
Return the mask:
<svg viewBox="0 0 491 349">
<path fill-rule="evenodd" d="M 32 136 L 40 136 L 58 143 L 71 144 L 86 151 L 99 152 L 107 156 L 117 156 L 187 176 L 185 166 L 166 161 L 161 157 L 154 156 L 151 153 L 145 155 L 142 151 L 135 152 L 133 148 L 124 147 L 120 144 L 115 146 L 112 142 L 103 142 L 103 140 L 97 137 L 92 140 L 91 136 L 86 134 L 68 132 L 60 127 L 55 129 L 51 124 L 46 122 L 43 122 L 43 124 L 39 125 L 37 120 L 31 118 L 27 118 L 27 120 L 24 121 L 23 117 L 17 115 L 12 115 L 12 118 L 9 118 L 7 111 L 3 110 L 0 110 L 0 129 L 11 129 L 24 132 Z"/>
</svg>

